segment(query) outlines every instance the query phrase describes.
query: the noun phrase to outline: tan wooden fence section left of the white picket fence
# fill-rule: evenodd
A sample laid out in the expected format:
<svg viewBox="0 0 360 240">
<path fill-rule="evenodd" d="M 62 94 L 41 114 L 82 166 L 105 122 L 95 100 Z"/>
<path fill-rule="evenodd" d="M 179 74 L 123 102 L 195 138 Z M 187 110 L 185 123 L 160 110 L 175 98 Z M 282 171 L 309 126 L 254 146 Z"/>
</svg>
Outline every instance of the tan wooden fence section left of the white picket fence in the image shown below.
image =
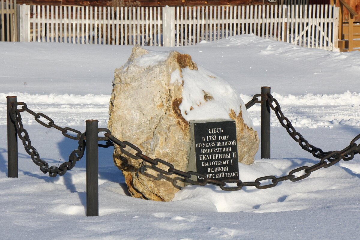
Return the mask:
<svg viewBox="0 0 360 240">
<path fill-rule="evenodd" d="M 16 0 L 0 1 L 0 41 L 17 41 Z"/>
</svg>

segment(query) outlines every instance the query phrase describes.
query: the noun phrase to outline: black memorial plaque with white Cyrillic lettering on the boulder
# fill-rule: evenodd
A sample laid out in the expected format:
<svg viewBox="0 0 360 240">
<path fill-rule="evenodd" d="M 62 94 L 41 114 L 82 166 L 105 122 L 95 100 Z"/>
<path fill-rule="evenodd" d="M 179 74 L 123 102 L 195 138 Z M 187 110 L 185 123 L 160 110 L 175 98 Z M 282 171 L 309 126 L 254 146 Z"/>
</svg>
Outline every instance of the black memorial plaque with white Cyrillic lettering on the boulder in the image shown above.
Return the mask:
<svg viewBox="0 0 360 240">
<path fill-rule="evenodd" d="M 216 180 L 239 179 L 234 121 L 194 123 L 194 143 L 198 173 Z"/>
</svg>

